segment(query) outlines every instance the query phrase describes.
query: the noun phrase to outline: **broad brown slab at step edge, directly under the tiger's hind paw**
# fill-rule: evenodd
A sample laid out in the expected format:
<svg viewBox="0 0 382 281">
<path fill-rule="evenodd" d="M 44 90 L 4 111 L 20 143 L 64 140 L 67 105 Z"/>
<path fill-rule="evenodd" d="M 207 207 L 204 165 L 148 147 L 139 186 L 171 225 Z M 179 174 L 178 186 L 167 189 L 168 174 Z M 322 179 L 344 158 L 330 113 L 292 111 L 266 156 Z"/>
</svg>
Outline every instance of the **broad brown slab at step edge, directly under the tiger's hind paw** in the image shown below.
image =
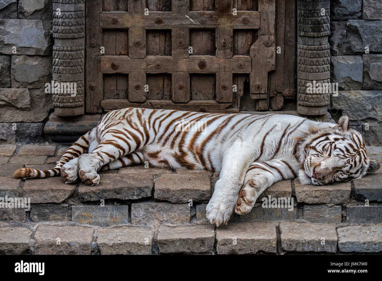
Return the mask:
<svg viewBox="0 0 382 281">
<path fill-rule="evenodd" d="M 103 174 L 98 185 L 89 186 L 81 183 L 78 194 L 81 201 L 131 200 L 151 197 L 153 186 L 152 178 L 147 174 Z"/>
</svg>

